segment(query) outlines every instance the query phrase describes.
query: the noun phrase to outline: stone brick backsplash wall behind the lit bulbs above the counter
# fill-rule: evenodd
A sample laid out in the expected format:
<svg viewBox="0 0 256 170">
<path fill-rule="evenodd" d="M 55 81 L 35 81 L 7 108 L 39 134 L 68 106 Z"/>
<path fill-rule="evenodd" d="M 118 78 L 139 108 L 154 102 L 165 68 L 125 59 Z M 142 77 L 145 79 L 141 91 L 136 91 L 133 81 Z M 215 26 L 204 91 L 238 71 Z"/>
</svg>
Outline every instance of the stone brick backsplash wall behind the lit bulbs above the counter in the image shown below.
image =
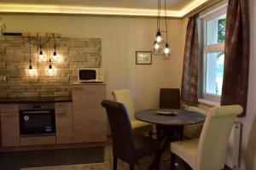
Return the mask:
<svg viewBox="0 0 256 170">
<path fill-rule="evenodd" d="M 31 46 L 32 66 L 37 75 L 27 74 L 30 59 L 29 42 L 23 37 L 0 37 L 0 97 L 67 96 L 71 94 L 71 84 L 77 81 L 78 68 L 102 66 L 102 40 L 99 38 L 55 39 L 56 52 L 60 61 L 53 61 L 55 75 L 49 76 L 49 45 L 44 45 L 46 61 L 38 61 L 38 40 Z M 46 42 L 47 39 L 42 39 Z M 13 42 L 13 43 L 10 43 Z M 50 55 L 53 54 L 53 41 L 50 41 Z M 3 80 L 5 77 L 5 80 Z"/>
</svg>

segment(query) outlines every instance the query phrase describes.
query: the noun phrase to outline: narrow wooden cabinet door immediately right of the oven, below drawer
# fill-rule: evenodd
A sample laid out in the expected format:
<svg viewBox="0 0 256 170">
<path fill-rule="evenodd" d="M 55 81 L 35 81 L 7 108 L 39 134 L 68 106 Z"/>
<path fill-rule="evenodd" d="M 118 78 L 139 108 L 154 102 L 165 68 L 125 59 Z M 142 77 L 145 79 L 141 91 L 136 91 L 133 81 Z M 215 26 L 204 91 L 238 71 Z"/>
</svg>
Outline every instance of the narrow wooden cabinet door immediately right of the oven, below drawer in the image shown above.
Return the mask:
<svg viewBox="0 0 256 170">
<path fill-rule="evenodd" d="M 55 111 L 56 143 L 68 144 L 73 142 L 72 111 Z"/>
</svg>

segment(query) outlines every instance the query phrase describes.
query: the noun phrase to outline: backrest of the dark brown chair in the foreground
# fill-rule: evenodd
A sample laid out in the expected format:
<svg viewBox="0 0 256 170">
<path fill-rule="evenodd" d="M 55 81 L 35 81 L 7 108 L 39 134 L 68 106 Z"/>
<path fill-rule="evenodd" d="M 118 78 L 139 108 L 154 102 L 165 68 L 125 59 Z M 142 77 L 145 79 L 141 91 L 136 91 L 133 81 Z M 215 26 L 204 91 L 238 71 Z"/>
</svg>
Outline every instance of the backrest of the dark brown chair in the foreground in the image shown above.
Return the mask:
<svg viewBox="0 0 256 170">
<path fill-rule="evenodd" d="M 113 156 L 123 161 L 131 162 L 134 157 L 134 143 L 131 122 L 125 106 L 121 103 L 103 100 L 102 106 L 106 108 L 110 124 Z"/>
</svg>

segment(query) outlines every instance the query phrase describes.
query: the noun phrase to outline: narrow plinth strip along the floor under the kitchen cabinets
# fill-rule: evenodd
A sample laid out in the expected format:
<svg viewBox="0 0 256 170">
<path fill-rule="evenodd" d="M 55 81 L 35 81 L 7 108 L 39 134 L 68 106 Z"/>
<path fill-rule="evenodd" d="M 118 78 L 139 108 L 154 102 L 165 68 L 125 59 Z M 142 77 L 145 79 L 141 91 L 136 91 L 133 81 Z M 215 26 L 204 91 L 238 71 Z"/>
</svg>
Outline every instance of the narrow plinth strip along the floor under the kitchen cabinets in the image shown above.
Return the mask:
<svg viewBox="0 0 256 170">
<path fill-rule="evenodd" d="M 107 146 L 108 142 L 97 142 L 97 143 L 83 143 L 83 144 L 49 144 L 49 145 L 38 145 L 38 146 L 15 146 L 15 147 L 3 147 L 0 148 L 1 152 L 10 151 L 26 151 L 26 150 L 58 150 L 68 148 L 86 148 L 95 146 Z"/>
</svg>

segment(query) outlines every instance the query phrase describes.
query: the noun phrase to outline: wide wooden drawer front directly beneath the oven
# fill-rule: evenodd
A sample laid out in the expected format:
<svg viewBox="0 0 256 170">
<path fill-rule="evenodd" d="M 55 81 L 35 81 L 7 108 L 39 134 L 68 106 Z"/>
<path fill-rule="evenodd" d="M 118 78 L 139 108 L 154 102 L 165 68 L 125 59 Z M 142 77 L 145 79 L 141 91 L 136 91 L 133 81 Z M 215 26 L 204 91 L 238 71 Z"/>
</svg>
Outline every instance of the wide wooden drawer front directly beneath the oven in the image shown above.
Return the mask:
<svg viewBox="0 0 256 170">
<path fill-rule="evenodd" d="M 20 145 L 44 145 L 55 144 L 55 136 L 20 137 Z"/>
</svg>

